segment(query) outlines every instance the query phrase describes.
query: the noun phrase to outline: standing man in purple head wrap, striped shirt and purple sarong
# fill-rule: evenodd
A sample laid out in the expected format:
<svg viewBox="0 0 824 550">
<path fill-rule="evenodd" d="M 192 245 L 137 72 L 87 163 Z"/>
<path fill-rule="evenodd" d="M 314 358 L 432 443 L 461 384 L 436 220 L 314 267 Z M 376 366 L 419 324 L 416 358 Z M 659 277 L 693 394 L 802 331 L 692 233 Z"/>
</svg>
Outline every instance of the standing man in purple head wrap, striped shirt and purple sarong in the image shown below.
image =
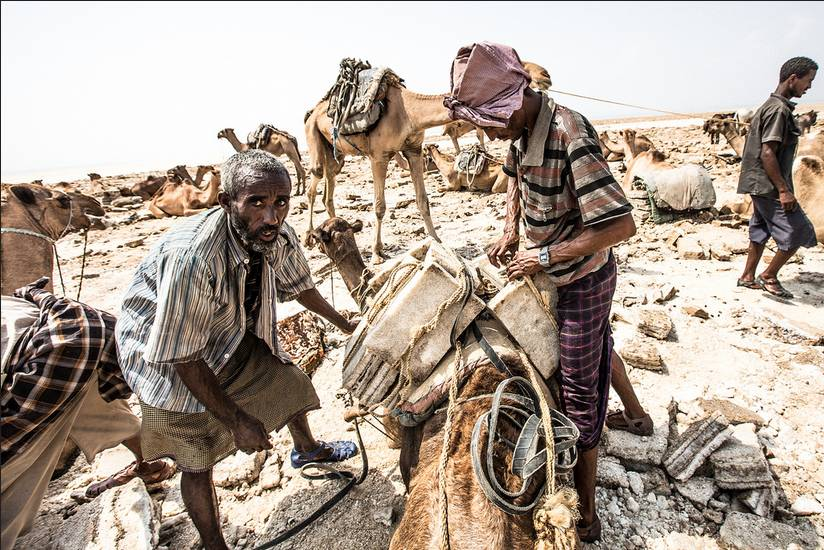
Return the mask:
<svg viewBox="0 0 824 550">
<path fill-rule="evenodd" d="M 529 75 L 509 46 L 482 42 L 461 48 L 452 64 L 453 119 L 481 127 L 491 140 L 511 140 L 504 236 L 487 250 L 506 263 L 510 279 L 546 271 L 558 287 L 561 407 L 581 431 L 575 486 L 581 540 L 601 536 L 595 513 L 598 440 L 606 419 L 610 374 L 625 412 L 609 426 L 639 435 L 652 420 L 638 402 L 620 357 L 612 351 L 609 313 L 616 265 L 611 247 L 635 234 L 620 185 L 601 154 L 592 124 L 531 90 Z M 518 251 L 519 220 L 526 250 Z"/>
</svg>

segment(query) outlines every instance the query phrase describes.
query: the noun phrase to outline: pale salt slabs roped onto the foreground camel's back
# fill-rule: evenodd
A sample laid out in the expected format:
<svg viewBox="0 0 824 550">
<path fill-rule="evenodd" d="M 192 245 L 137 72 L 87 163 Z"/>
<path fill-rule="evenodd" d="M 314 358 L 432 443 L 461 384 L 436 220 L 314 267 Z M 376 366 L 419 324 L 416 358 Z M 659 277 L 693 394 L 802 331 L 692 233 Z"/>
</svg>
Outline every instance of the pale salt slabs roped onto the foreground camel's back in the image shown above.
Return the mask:
<svg viewBox="0 0 824 550">
<path fill-rule="evenodd" d="M 466 263 L 427 240 L 376 280 L 382 286 L 343 360 L 343 385 L 361 405 L 392 408 L 402 393 L 434 382 L 433 371 L 452 349 L 453 330 L 461 334 L 487 307 L 484 316 L 506 328 L 542 375 L 555 370 L 558 335 L 547 311 L 554 310 L 557 294 L 546 276 L 535 278 L 539 301 L 526 284 L 506 284 L 485 260 Z M 487 303 L 479 294 L 493 297 Z"/>
</svg>

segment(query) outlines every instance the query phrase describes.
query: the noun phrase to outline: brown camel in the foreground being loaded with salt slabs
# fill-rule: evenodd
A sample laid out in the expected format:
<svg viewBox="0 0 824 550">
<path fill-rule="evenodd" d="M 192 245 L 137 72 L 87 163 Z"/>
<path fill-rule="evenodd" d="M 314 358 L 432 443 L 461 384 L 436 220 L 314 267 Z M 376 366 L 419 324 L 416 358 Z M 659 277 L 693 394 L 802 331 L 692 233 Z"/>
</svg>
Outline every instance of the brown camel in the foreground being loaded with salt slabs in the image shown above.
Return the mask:
<svg viewBox="0 0 824 550">
<path fill-rule="evenodd" d="M 364 288 L 371 278 L 355 242 L 354 233 L 360 231 L 361 227 L 359 221 L 350 225 L 341 218 L 333 217 L 311 233 L 313 240 L 318 241 L 321 250 L 337 267 L 357 303 L 364 303 Z M 363 311 L 365 308 L 361 309 Z M 502 355 L 513 373 L 524 376 L 523 368 L 516 358 L 517 354 Z M 458 399 L 488 396 L 504 378 L 505 375 L 494 367 L 481 365 L 458 391 Z M 489 410 L 490 402 L 490 397 L 465 401 L 457 407 L 452 420 L 449 462 L 445 470 L 450 543 L 453 548 L 478 548 L 479 541 L 483 541 L 483 548 L 488 549 L 532 550 L 535 541 L 532 514 L 511 516 L 496 508 L 482 492 L 473 471 L 470 455 L 472 430 L 478 417 Z M 409 496 L 406 511 L 392 536 L 390 549 L 423 550 L 440 547 L 438 469 L 444 422 L 445 413 L 441 411 L 418 427 L 399 430 L 400 469 Z M 504 437 L 515 441 L 517 434 L 513 428 L 508 427 Z M 502 443 L 496 443 L 496 449 L 499 445 L 501 453 L 509 455 Z M 485 452 L 485 445 L 482 446 L 482 451 Z M 506 464 L 495 466 L 498 479 L 505 481 L 508 490 L 514 491 L 520 486 L 520 480 L 510 473 L 509 468 L 510 459 L 506 460 Z M 537 479 L 544 479 L 542 472 L 543 469 L 536 475 Z M 537 484 L 533 481 L 526 497 L 533 496 L 536 490 Z"/>
</svg>

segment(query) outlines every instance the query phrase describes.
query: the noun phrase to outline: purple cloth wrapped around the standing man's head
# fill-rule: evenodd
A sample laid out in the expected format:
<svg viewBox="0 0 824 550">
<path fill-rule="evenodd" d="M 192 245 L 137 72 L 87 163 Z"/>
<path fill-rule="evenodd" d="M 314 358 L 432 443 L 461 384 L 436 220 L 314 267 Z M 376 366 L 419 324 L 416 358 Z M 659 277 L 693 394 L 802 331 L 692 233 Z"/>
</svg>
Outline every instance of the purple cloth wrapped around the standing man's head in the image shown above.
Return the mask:
<svg viewBox="0 0 824 550">
<path fill-rule="evenodd" d="M 458 50 L 450 74 L 452 91 L 443 100 L 452 120 L 503 128 L 521 108 L 531 81 L 518 52 L 480 42 Z"/>
</svg>

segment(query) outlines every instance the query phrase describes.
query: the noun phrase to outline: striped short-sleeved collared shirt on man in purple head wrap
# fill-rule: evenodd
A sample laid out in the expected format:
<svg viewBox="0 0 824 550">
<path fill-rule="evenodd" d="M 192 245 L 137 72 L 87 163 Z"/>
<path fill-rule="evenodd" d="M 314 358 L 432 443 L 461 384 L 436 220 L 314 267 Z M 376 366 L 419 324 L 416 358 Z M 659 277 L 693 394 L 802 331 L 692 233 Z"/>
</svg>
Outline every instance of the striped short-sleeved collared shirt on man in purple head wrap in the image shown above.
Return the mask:
<svg viewBox="0 0 824 550">
<path fill-rule="evenodd" d="M 570 241 L 585 227 L 632 210 L 604 160 L 592 124 L 546 95 L 541 99 L 532 135 L 513 141 L 503 167 L 518 180 L 527 248 Z M 562 286 L 599 270 L 608 257 L 606 249 L 546 271 Z"/>
</svg>

